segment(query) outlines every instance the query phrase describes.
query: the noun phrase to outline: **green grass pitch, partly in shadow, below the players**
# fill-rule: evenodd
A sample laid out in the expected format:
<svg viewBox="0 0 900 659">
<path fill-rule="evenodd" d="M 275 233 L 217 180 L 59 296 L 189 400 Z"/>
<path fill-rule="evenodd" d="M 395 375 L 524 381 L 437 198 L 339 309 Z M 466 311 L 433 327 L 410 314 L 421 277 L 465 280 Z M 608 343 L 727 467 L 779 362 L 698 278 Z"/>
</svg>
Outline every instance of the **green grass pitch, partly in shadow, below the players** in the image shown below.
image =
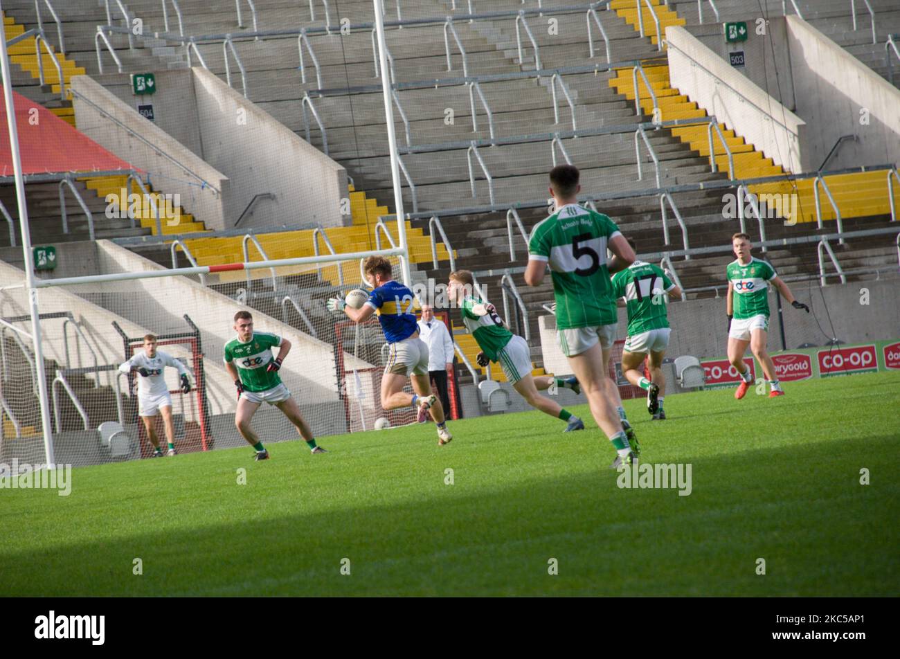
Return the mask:
<svg viewBox="0 0 900 659">
<path fill-rule="evenodd" d="M 671 396 L 664 422 L 626 401 L 689 496 L 618 488 L 584 405 L 564 435 L 532 411 L 447 447 L 428 425 L 79 468 L 68 497 L 0 491 L 0 594 L 897 595 L 900 373 L 785 389 Z"/>
</svg>

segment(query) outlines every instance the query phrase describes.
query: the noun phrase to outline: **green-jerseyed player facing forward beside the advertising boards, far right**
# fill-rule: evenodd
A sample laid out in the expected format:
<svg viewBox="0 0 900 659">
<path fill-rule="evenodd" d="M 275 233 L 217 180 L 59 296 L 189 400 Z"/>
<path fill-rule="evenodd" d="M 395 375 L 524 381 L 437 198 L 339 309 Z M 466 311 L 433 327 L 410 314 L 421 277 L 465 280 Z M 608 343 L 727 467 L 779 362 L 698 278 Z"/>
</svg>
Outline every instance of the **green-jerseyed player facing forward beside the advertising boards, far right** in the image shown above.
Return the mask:
<svg viewBox="0 0 900 659">
<path fill-rule="evenodd" d="M 753 383 L 753 377 L 743 363 L 743 354 L 747 346 L 760 364 L 762 372 L 769 381 L 770 398 L 783 396 L 775 365 L 766 350 L 769 340 L 769 283 L 771 282 L 784 298 L 795 309 L 803 309 L 809 313 L 809 307 L 797 302 L 790 292 L 788 284 L 781 281 L 775 268 L 750 253 L 752 245 L 746 233 L 735 233 L 732 236 L 732 248 L 737 260 L 728 264 L 728 361 L 741 375 L 741 384 L 734 393 L 734 398 L 741 399 L 747 388 Z"/>
</svg>

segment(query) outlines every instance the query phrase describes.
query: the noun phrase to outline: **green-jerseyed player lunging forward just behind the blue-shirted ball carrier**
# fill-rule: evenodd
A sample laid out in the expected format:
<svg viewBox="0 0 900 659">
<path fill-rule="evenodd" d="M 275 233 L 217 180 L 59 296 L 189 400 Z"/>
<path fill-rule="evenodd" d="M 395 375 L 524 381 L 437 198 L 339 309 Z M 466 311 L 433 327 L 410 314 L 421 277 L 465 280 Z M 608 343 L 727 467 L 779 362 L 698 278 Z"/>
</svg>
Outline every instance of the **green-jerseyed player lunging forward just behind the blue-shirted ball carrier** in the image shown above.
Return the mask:
<svg viewBox="0 0 900 659">
<path fill-rule="evenodd" d="M 450 282 L 447 284 L 447 297 L 450 302 L 455 302 L 463 316 L 465 329 L 472 332 L 478 347 L 482 352 L 478 353 L 479 366 L 488 366 L 490 362 L 500 362 L 500 368 L 507 379 L 512 383 L 519 395 L 536 410 L 549 414 L 554 419 L 562 419 L 567 422 L 563 432 L 583 430 L 584 421 L 574 416 L 572 412 L 560 407 L 558 402 L 537 393 L 545 391 L 552 386 L 572 389 L 575 393 L 581 393 L 578 380 L 570 378 L 554 378 L 549 375 L 534 377 L 531 375 L 531 351 L 525 339 L 513 334 L 503 320 L 497 315 L 493 304 L 483 302 L 473 297 L 475 280 L 468 270 L 457 270 L 450 273 Z"/>
</svg>

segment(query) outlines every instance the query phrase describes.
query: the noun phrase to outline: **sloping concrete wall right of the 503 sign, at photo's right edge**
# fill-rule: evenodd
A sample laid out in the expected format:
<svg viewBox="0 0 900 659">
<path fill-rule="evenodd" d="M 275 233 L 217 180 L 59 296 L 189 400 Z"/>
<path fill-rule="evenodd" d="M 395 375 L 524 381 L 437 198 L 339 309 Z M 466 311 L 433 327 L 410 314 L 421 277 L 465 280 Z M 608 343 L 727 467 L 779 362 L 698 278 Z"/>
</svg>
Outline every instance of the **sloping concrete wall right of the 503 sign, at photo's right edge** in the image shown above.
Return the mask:
<svg viewBox="0 0 900 659">
<path fill-rule="evenodd" d="M 788 16 L 788 45 L 797 114 L 809 128 L 802 140 L 804 167 L 818 168 L 848 134 L 859 141 L 844 141 L 829 169 L 898 162 L 900 89 L 794 15 Z"/>
</svg>

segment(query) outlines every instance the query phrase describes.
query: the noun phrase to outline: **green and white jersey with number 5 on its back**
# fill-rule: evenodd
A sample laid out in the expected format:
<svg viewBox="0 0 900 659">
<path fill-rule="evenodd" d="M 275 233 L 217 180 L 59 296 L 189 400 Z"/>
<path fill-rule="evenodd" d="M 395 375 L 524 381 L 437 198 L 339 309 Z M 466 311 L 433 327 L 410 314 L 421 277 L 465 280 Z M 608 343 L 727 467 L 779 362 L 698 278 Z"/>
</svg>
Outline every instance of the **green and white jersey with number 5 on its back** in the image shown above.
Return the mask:
<svg viewBox="0 0 900 659">
<path fill-rule="evenodd" d="M 531 231 L 528 258 L 550 264 L 557 330 L 616 323 L 607 245 L 620 235 L 607 215 L 576 203 L 566 204 Z"/>
</svg>

